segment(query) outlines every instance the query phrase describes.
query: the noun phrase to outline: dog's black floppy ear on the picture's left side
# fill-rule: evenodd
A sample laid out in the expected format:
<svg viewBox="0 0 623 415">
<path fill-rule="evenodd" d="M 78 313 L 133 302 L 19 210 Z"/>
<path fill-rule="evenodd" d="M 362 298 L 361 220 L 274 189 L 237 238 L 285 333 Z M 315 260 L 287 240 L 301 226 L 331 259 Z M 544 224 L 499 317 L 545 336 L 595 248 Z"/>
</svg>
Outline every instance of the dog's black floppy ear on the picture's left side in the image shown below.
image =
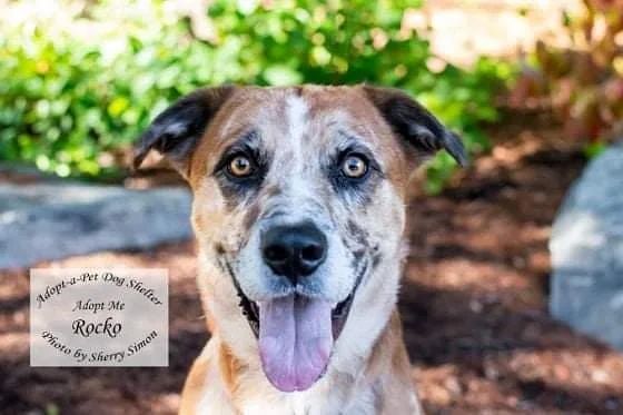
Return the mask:
<svg viewBox="0 0 623 415">
<path fill-rule="evenodd" d="M 132 167 L 138 169 L 155 149 L 185 177 L 189 156 L 218 109 L 235 87 L 204 88 L 191 92 L 157 116 L 136 145 Z"/>
</svg>

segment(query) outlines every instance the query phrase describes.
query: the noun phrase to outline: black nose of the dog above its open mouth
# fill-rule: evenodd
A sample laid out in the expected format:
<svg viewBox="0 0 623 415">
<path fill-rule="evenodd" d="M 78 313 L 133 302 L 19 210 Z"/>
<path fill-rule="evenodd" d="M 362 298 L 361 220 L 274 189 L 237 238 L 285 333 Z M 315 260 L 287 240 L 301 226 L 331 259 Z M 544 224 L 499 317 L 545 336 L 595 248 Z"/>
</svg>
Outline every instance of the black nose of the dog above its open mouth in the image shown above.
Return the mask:
<svg viewBox="0 0 623 415">
<path fill-rule="evenodd" d="M 266 265 L 296 281 L 316 270 L 327 256 L 327 238 L 314 224 L 275 226 L 261 238 Z"/>
</svg>

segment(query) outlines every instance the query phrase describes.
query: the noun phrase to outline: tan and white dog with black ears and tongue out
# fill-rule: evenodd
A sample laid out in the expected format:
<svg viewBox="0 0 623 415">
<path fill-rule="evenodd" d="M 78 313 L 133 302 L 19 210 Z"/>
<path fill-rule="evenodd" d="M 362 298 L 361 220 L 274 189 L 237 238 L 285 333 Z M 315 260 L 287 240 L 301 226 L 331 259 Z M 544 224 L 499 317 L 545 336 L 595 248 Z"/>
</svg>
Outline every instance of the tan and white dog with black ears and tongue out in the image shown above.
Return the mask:
<svg viewBox="0 0 623 415">
<path fill-rule="evenodd" d="M 407 185 L 461 139 L 366 85 L 197 90 L 141 136 L 194 194 L 211 338 L 180 414 L 418 414 L 397 293 Z"/>
</svg>

